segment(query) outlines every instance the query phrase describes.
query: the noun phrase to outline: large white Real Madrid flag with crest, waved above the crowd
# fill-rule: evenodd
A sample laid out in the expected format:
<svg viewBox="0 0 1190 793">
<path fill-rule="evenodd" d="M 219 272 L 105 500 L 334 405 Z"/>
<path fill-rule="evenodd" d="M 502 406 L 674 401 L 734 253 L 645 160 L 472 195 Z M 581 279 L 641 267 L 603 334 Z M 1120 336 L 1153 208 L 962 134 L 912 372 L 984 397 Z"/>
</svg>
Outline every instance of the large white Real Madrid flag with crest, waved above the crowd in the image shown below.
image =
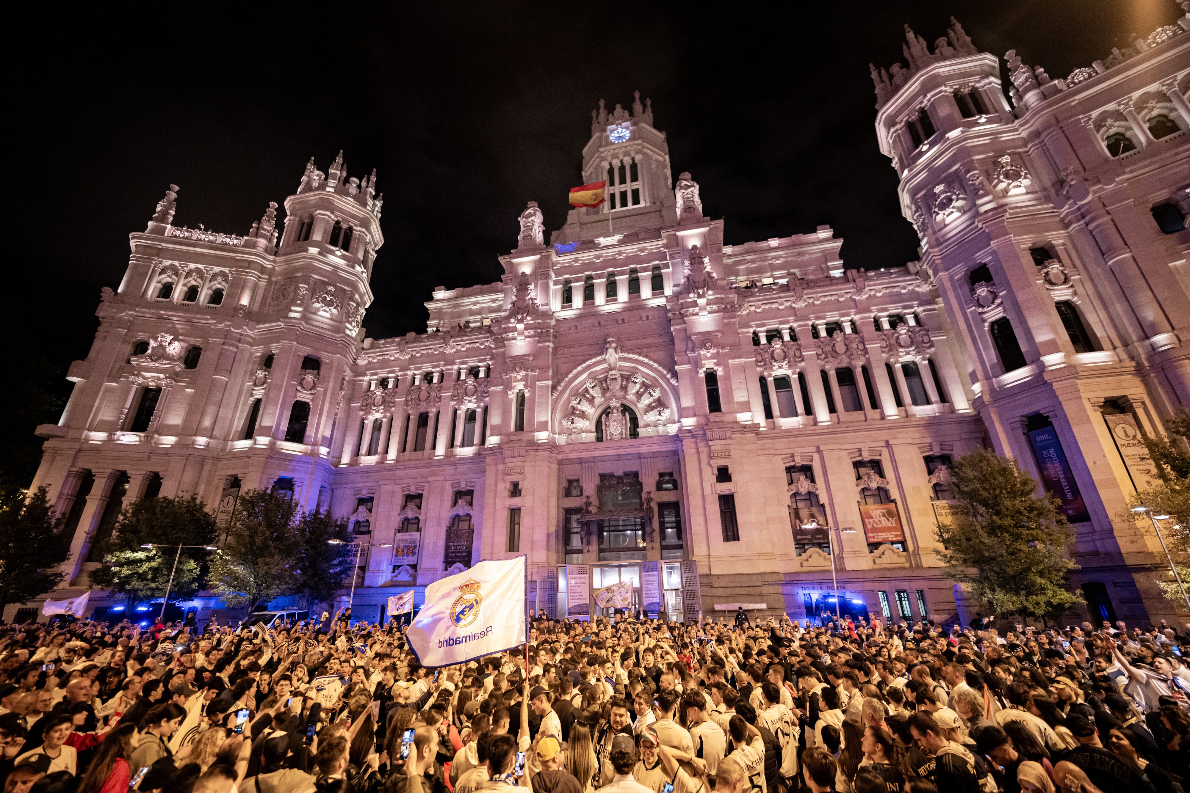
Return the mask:
<svg viewBox="0 0 1190 793">
<path fill-rule="evenodd" d="M 463 663 L 525 643 L 525 558 L 481 561 L 434 581 L 406 632 L 421 666 Z"/>
</svg>

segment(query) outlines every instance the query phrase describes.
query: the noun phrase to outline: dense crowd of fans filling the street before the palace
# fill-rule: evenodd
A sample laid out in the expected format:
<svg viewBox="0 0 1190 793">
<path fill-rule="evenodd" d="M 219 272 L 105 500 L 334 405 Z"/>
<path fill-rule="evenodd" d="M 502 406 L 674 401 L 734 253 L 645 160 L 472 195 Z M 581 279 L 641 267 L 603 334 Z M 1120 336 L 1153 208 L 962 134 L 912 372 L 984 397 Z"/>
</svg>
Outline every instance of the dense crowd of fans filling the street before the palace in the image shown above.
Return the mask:
<svg viewBox="0 0 1190 793">
<path fill-rule="evenodd" d="M 5 793 L 1186 793 L 1190 624 L 0 627 Z"/>
</svg>

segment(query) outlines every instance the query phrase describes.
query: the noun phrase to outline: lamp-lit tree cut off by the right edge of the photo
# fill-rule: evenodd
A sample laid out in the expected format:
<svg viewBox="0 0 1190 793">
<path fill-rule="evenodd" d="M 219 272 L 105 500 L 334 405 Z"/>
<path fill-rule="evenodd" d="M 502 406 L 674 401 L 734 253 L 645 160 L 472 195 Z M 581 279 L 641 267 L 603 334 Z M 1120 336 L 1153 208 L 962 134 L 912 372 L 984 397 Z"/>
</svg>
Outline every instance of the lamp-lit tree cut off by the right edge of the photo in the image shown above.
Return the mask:
<svg viewBox="0 0 1190 793">
<path fill-rule="evenodd" d="M 1128 506 L 1147 506 L 1154 515 L 1169 515 L 1172 520 L 1161 521 L 1161 536 L 1170 558 L 1178 568 L 1182 581 L 1190 586 L 1190 454 L 1186 453 L 1190 442 L 1190 414 L 1179 408 L 1165 422 L 1171 440 L 1161 436 L 1141 436 L 1148 458 L 1153 461 L 1153 471 L 1160 479 L 1152 487 L 1134 493 L 1128 499 Z M 1127 512 L 1128 520 L 1136 521 L 1142 531 L 1152 531 L 1153 523 L 1148 512 Z M 1182 590 L 1176 581 L 1158 581 L 1165 597 L 1182 603 Z"/>
</svg>

